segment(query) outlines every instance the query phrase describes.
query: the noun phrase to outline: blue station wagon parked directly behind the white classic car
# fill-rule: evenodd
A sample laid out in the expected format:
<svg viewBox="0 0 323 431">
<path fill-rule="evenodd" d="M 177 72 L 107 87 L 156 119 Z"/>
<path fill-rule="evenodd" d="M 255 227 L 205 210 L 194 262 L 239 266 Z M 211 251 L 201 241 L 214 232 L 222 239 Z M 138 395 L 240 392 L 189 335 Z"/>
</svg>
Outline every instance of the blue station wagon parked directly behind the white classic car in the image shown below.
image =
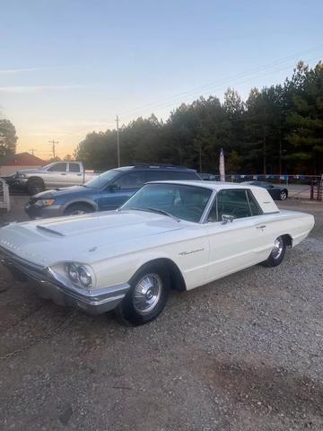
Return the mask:
<svg viewBox="0 0 323 431">
<path fill-rule="evenodd" d="M 111 169 L 81 187 L 49 190 L 33 196 L 25 207 L 31 218 L 69 216 L 116 209 L 145 182 L 200 180 L 196 171 L 172 165 L 137 165 Z"/>
</svg>

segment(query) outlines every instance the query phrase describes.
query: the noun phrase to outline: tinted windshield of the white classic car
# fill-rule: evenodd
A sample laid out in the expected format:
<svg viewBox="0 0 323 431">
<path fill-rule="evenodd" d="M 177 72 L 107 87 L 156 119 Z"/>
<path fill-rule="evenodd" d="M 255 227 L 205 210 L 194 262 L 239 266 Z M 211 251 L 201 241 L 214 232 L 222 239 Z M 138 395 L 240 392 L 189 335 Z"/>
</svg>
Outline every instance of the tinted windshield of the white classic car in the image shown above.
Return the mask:
<svg viewBox="0 0 323 431">
<path fill-rule="evenodd" d="M 198 223 L 212 190 L 181 184 L 147 184 L 121 209 L 160 211 L 181 220 Z"/>
</svg>

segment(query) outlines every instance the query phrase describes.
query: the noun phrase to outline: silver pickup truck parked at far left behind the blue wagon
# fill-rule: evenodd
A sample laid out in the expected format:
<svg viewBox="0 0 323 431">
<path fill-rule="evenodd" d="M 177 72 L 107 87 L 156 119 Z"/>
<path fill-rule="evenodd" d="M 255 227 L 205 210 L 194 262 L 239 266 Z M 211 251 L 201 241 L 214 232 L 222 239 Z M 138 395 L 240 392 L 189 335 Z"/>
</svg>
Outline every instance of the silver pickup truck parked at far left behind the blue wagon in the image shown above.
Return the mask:
<svg viewBox="0 0 323 431">
<path fill-rule="evenodd" d="M 45 189 L 77 186 L 96 176 L 96 173 L 85 172 L 82 162 L 54 162 L 40 169 L 14 172 L 5 180 L 11 189 L 26 190 L 35 195 Z"/>
</svg>

